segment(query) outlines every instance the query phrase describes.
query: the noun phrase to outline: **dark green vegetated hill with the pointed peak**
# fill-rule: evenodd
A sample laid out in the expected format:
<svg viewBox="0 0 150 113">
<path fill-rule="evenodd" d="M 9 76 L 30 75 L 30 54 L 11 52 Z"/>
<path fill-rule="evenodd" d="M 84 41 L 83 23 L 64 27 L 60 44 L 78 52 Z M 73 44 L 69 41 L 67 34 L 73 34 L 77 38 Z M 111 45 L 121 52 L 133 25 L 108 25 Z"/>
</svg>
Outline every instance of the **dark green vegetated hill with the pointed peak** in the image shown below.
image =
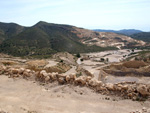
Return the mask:
<svg viewBox="0 0 150 113">
<path fill-rule="evenodd" d="M 6 24 L 7 26 L 7 24 Z M 13 28 L 9 26 L 7 29 Z M 16 27 L 14 27 L 15 29 Z M 39 22 L 32 27 L 21 29 L 10 35 L 0 45 L 0 51 L 14 56 L 49 55 L 67 51 L 70 53 L 107 50 L 98 46 L 87 46 L 79 42 L 72 26 Z M 4 31 L 4 29 L 3 29 Z M 5 32 L 5 36 L 7 36 Z"/>
</svg>

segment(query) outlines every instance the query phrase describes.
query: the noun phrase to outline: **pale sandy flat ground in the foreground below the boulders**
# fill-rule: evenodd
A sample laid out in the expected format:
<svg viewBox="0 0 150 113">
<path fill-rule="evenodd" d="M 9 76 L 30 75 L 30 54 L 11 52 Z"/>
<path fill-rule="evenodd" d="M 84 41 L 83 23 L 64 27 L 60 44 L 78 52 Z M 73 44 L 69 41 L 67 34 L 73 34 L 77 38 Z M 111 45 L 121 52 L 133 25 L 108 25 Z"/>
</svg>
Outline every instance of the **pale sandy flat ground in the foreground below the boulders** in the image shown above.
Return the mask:
<svg viewBox="0 0 150 113">
<path fill-rule="evenodd" d="M 150 102 L 122 100 L 97 94 L 86 87 L 46 86 L 35 81 L 0 76 L 0 110 L 9 113 L 129 113 Z"/>
</svg>

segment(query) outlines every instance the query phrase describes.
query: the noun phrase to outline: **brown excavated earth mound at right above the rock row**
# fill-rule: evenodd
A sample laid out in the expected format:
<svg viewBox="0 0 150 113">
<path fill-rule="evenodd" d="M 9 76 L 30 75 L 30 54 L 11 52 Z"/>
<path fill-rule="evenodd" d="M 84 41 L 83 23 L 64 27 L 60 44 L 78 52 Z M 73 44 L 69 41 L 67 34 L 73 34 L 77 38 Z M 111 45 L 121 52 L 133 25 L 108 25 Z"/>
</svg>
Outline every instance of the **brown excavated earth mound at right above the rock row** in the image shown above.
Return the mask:
<svg viewBox="0 0 150 113">
<path fill-rule="evenodd" d="M 144 61 L 126 61 L 122 63 L 111 64 L 105 67 L 103 71 L 108 75 L 115 76 L 150 76 L 150 66 Z M 105 75 L 103 73 L 101 76 Z"/>
</svg>

